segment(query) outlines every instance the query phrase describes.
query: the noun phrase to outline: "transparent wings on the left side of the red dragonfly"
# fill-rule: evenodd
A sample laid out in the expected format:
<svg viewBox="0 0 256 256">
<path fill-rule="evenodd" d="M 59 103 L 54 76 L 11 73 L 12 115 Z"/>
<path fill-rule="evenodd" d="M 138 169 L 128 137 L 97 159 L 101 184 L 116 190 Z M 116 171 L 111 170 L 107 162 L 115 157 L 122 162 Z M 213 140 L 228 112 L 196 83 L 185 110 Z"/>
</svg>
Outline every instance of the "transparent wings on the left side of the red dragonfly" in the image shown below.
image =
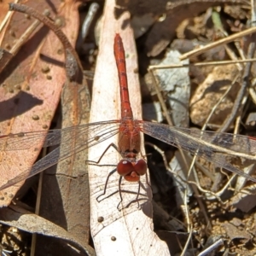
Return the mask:
<svg viewBox="0 0 256 256">
<path fill-rule="evenodd" d="M 33 166 L 22 170 L 19 175 L 10 179 L 8 183 L 0 187 L 0 190 L 6 189 L 27 177 L 32 177 L 38 174 L 38 172 L 43 172 L 50 166 L 54 166 L 57 162 L 86 148 L 102 143 L 118 132 L 119 120 L 112 120 L 59 130 L 21 132 L 19 134 L 2 136 L 0 137 L 0 147 L 5 151 L 37 147 L 38 143 L 42 142 L 42 139 L 44 139 L 44 147 L 61 143 L 61 150 L 60 147 L 55 148 L 55 150 L 51 151 L 41 160 L 38 160 Z"/>
</svg>

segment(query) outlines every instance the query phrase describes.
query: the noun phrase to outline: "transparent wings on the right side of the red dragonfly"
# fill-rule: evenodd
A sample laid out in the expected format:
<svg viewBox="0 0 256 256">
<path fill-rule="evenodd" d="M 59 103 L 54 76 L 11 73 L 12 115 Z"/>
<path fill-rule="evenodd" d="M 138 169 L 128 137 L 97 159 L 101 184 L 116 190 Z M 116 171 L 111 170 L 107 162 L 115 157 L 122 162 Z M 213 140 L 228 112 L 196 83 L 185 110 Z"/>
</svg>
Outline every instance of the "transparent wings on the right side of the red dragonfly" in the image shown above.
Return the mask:
<svg viewBox="0 0 256 256">
<path fill-rule="evenodd" d="M 242 172 L 232 164 L 236 162 L 233 161 L 236 157 L 242 160 L 256 160 L 256 138 L 254 137 L 199 131 L 150 122 L 141 122 L 140 127 L 141 131 L 151 137 L 183 148 L 191 154 L 197 154 L 219 167 L 247 177 L 256 183 L 256 178 Z"/>
</svg>

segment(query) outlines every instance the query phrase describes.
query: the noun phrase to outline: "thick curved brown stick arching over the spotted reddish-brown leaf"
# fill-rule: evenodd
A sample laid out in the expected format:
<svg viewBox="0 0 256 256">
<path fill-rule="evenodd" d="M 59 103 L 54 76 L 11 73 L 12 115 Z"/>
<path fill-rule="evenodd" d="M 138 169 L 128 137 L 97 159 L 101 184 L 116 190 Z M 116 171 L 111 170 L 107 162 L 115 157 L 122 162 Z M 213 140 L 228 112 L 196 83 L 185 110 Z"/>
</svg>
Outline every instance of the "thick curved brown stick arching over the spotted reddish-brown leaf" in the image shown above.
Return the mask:
<svg viewBox="0 0 256 256">
<path fill-rule="evenodd" d="M 66 35 L 61 31 L 61 29 L 58 26 L 55 26 L 55 24 L 47 17 L 38 13 L 37 10 L 32 9 L 31 7 L 28 7 L 24 4 L 9 3 L 9 9 L 31 15 L 35 19 L 43 22 L 45 26 L 48 26 L 49 29 L 55 32 L 55 35 L 60 39 L 65 49 L 67 77 L 69 79 L 75 79 L 75 75 L 78 75 L 79 71 L 83 70 L 83 67 L 79 61 L 79 56 L 77 55 L 75 49 L 73 49 L 72 44 L 69 43 Z"/>
</svg>

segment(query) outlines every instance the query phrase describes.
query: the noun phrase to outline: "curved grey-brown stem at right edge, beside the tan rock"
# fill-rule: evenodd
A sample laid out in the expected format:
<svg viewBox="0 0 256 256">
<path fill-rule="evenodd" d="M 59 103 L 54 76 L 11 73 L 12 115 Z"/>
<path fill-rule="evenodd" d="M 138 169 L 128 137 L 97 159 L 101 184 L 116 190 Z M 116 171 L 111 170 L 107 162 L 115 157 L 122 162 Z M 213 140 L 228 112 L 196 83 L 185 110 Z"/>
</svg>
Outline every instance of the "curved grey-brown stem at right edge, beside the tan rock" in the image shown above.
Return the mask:
<svg viewBox="0 0 256 256">
<path fill-rule="evenodd" d="M 255 51 L 255 35 L 252 36 L 252 42 L 249 46 L 248 49 L 248 57 L 250 58 L 251 56 L 254 55 Z M 222 125 L 221 128 L 218 129 L 218 132 L 224 132 L 227 131 L 228 128 L 230 127 L 230 124 L 236 119 L 236 115 L 239 111 L 239 108 L 241 107 L 241 101 L 245 94 L 247 93 L 247 83 L 248 83 L 248 76 L 250 74 L 250 70 L 252 67 L 252 63 L 248 62 L 244 68 L 244 73 L 242 76 L 242 82 L 241 82 L 241 88 L 236 96 L 236 101 L 234 102 L 234 107 L 231 110 L 230 116 L 224 120 L 224 124 Z"/>
</svg>

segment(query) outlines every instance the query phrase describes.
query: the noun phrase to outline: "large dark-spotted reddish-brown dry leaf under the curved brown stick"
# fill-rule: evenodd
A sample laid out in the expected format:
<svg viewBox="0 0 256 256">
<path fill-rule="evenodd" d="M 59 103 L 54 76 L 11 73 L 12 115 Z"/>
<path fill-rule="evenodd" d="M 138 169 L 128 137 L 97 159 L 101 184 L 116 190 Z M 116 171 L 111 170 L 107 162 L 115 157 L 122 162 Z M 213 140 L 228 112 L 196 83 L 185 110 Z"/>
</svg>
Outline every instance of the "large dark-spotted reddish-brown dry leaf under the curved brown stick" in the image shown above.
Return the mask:
<svg viewBox="0 0 256 256">
<path fill-rule="evenodd" d="M 0 3 L 0 9 L 4 4 L 6 5 Z M 57 13 L 61 10 L 68 9 L 65 13 L 67 16 L 59 16 L 58 20 L 67 38 L 72 44 L 75 43 L 76 32 L 73 27 L 70 29 L 72 23 L 69 19 L 73 12 L 77 12 L 77 3 L 67 1 L 59 5 L 57 1 L 50 4 L 45 1 L 31 1 L 26 4 L 42 12 L 49 9 L 52 19 L 57 18 Z M 7 49 L 11 48 L 32 21 L 27 15 L 12 12 L 8 25 L 0 32 L 1 45 Z M 60 100 L 62 86 L 67 79 L 64 61 L 64 49 L 59 39 L 54 32 L 43 25 L 40 26 L 1 73 L 0 98 L 4 102 L 3 108 L 0 109 L 1 134 L 42 131 L 49 128 Z M 0 155 L 1 185 L 32 166 L 43 143 L 44 139 L 38 141 L 34 148 L 6 152 L 3 146 Z M 29 169 L 27 171 L 29 172 Z M 20 184 L 0 192 L 2 206 L 9 204 Z"/>
</svg>

